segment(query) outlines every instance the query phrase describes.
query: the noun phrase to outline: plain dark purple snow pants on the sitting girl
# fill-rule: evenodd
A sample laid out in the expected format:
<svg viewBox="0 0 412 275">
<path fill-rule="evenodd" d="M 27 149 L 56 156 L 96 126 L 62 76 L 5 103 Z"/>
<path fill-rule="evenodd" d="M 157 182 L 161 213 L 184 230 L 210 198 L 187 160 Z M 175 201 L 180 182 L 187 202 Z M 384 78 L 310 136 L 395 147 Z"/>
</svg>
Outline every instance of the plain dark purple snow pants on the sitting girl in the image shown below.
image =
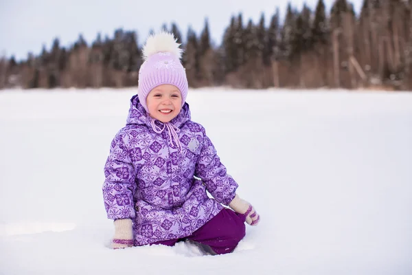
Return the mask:
<svg viewBox="0 0 412 275">
<path fill-rule="evenodd" d="M 224 208 L 205 225 L 184 239 L 208 245 L 216 254 L 227 254 L 236 248 L 246 234 L 244 219 L 244 215 Z M 173 246 L 184 239 L 158 241 L 151 243 L 151 245 Z"/>
</svg>

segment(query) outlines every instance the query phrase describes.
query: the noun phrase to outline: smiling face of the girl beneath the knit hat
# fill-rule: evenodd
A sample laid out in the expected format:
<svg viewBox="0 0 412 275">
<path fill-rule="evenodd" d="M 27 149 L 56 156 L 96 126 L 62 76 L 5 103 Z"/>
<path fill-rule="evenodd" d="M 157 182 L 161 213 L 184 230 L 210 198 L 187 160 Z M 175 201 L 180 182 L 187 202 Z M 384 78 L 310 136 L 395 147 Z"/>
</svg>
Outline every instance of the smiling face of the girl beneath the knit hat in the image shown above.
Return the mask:
<svg viewBox="0 0 412 275">
<path fill-rule="evenodd" d="M 146 98 L 149 114 L 161 122 L 170 122 L 182 109 L 182 96 L 176 86 L 163 84 L 152 89 Z"/>
</svg>

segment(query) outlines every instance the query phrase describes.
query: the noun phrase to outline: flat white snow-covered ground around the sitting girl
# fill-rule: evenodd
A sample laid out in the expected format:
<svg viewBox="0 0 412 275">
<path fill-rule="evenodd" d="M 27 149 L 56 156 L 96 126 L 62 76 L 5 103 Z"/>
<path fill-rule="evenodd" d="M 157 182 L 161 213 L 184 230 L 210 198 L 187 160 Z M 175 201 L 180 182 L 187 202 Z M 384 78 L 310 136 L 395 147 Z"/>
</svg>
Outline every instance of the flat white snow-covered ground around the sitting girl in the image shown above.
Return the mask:
<svg viewBox="0 0 412 275">
<path fill-rule="evenodd" d="M 262 222 L 232 254 L 110 250 L 103 166 L 133 89 L 0 91 L 0 274 L 412 274 L 412 94 L 190 91 Z"/>
</svg>

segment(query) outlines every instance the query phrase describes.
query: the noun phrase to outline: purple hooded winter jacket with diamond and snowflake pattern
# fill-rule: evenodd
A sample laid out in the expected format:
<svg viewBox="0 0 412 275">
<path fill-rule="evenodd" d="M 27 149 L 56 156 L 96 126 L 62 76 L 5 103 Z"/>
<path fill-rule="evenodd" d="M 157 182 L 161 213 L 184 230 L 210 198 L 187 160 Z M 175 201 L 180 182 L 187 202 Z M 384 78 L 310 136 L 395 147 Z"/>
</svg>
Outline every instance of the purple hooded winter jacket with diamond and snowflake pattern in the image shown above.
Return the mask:
<svg viewBox="0 0 412 275">
<path fill-rule="evenodd" d="M 104 166 L 107 217 L 132 219 L 135 245 L 190 236 L 222 210 L 220 203 L 228 205 L 238 188 L 203 126 L 191 121 L 187 103 L 170 122 L 180 130 L 181 148 L 168 128 L 156 133 L 151 123 L 133 96 L 126 126 L 115 135 Z"/>
</svg>

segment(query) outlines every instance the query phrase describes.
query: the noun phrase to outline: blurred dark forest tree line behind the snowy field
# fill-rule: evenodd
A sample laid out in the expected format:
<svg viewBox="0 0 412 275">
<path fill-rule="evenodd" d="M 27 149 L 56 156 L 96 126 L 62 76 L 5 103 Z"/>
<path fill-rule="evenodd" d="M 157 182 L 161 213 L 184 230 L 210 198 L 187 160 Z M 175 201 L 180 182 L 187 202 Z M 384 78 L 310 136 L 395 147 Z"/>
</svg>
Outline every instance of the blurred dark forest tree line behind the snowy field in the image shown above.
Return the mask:
<svg viewBox="0 0 412 275">
<path fill-rule="evenodd" d="M 190 87 L 236 88 L 379 87 L 412 90 L 412 0 L 363 0 L 356 14 L 347 0 L 323 0 L 311 10 L 290 3 L 281 22 L 279 9 L 266 24 L 232 16 L 220 45 L 210 39 L 209 23 L 201 34 L 188 28 L 183 65 Z M 143 41 L 146 39 L 143 39 Z M 100 34 L 88 45 L 80 35 L 70 47 L 54 39 L 52 48 L 17 62 L 0 59 L 0 89 L 5 87 L 131 87 L 137 85 L 141 47 L 134 31 Z"/>
</svg>

